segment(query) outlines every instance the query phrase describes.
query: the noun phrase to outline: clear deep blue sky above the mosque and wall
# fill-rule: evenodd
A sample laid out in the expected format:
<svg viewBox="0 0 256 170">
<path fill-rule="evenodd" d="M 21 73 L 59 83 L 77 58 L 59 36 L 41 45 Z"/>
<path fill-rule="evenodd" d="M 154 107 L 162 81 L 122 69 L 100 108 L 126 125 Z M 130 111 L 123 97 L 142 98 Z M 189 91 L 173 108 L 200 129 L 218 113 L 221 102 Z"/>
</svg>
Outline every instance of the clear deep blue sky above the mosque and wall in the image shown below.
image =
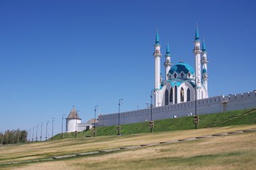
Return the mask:
<svg viewBox="0 0 256 170">
<path fill-rule="evenodd" d="M 253 91 L 255 9 L 245 0 L 0 1 L 0 131 L 55 117 L 61 132 L 73 105 L 83 121 L 97 104 L 100 113 L 118 112 L 119 98 L 121 111 L 146 108 L 156 28 L 162 54 L 169 40 L 172 63 L 193 67 L 198 22 L 210 96 Z"/>
</svg>

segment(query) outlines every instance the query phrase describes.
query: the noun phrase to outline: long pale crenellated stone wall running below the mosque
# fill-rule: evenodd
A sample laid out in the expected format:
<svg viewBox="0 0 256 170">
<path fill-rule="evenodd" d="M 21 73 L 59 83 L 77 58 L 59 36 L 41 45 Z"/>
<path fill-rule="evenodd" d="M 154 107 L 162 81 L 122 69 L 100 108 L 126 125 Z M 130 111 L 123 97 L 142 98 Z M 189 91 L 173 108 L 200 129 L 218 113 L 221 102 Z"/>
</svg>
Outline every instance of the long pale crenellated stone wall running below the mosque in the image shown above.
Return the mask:
<svg viewBox="0 0 256 170">
<path fill-rule="evenodd" d="M 220 95 L 197 100 L 197 114 L 213 114 L 248 108 L 256 108 L 255 91 L 230 96 Z M 193 115 L 195 114 L 195 101 L 152 108 L 152 119 L 162 120 L 172 118 L 174 115 L 176 115 L 177 118 L 181 118 L 188 116 L 190 113 Z M 120 114 L 120 124 L 144 122 L 145 120 L 150 120 L 150 108 L 123 112 Z M 117 124 L 118 114 L 106 114 L 98 117 L 98 126 L 111 126 Z"/>
</svg>

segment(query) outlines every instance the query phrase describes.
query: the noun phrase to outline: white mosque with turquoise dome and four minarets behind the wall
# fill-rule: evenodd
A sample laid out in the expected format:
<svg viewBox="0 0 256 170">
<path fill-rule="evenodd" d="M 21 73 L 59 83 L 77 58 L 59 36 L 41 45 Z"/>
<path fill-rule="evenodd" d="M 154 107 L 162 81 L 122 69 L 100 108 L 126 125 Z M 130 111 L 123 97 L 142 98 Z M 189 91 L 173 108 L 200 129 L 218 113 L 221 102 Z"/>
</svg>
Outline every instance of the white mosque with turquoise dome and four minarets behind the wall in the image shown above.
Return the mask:
<svg viewBox="0 0 256 170">
<path fill-rule="evenodd" d="M 201 47 L 198 28 L 195 30 L 195 40 L 193 54 L 195 55 L 195 69 L 186 62 L 179 62 L 172 66 L 170 60 L 170 47 L 167 44 L 165 56 L 164 80 L 160 73 L 160 39 L 156 33 L 156 43 L 154 44 L 154 105 L 156 107 L 172 105 L 175 103 L 205 99 L 208 97 L 207 89 L 207 52 L 205 42 Z M 195 88 L 196 87 L 196 88 Z"/>
</svg>

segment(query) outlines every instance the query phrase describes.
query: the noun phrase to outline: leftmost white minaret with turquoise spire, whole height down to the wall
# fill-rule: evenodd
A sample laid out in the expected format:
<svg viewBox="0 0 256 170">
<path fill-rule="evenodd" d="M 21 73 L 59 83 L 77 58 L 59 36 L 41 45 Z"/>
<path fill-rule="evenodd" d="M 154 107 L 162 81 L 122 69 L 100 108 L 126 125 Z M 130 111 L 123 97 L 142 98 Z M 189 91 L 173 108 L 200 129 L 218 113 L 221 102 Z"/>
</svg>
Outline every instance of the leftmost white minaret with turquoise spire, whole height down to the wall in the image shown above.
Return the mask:
<svg viewBox="0 0 256 170">
<path fill-rule="evenodd" d="M 156 43 L 154 44 L 154 48 L 155 51 L 153 53 L 153 56 L 155 58 L 155 99 L 154 99 L 154 103 L 155 106 L 156 105 L 161 105 L 160 103 L 160 57 L 162 56 L 161 52 L 160 52 L 160 41 L 159 41 L 159 36 L 158 36 L 158 32 L 156 32 Z"/>
</svg>

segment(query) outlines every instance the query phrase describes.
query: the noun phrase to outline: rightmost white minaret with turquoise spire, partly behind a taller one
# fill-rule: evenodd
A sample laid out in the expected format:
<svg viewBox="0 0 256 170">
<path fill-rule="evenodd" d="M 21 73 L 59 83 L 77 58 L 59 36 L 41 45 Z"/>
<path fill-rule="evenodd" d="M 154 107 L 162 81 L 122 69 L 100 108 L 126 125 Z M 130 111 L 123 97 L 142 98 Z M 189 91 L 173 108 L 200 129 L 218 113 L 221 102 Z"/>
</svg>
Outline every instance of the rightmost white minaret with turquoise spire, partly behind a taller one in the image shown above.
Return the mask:
<svg viewBox="0 0 256 170">
<path fill-rule="evenodd" d="M 202 45 L 202 59 L 201 59 L 201 65 L 203 65 L 203 76 L 202 76 L 202 81 L 203 81 L 203 86 L 205 89 L 208 91 L 208 73 L 207 73 L 207 52 L 205 48 L 205 42 L 203 39 L 203 45 Z"/>
</svg>

